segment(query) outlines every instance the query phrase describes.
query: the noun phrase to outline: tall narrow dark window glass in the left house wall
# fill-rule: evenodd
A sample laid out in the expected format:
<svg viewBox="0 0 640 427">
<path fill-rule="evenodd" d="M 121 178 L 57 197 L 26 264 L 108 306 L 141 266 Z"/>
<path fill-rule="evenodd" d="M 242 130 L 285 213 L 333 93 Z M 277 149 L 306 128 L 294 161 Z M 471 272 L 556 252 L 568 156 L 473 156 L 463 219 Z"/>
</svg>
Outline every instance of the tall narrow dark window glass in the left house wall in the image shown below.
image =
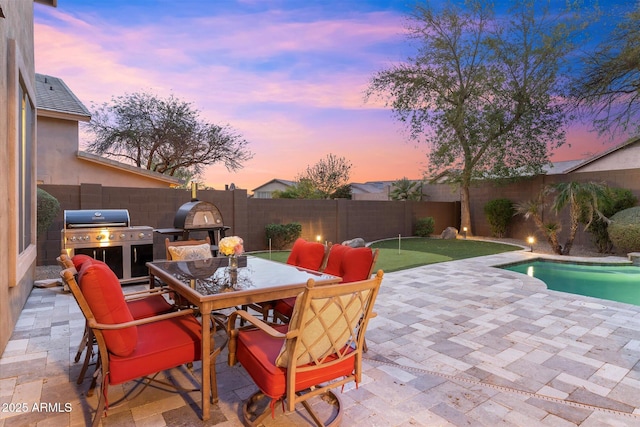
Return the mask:
<svg viewBox="0 0 640 427">
<path fill-rule="evenodd" d="M 35 108 L 20 82 L 18 100 L 18 254 L 33 242 L 33 128 Z"/>
</svg>

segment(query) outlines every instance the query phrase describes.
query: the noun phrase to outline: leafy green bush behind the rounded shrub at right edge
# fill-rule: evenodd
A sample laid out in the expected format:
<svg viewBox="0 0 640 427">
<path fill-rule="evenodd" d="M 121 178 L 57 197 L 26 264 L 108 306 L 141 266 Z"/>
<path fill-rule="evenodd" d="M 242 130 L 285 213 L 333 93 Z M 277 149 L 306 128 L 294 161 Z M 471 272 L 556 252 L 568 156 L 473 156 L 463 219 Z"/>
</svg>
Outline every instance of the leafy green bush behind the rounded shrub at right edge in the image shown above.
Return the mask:
<svg viewBox="0 0 640 427">
<path fill-rule="evenodd" d="M 624 209 L 634 207 L 638 203 L 638 198 L 633 195 L 631 190 L 626 188 L 609 188 L 606 197 L 598 200 L 598 209 L 607 218 L 611 218 L 615 213 Z M 580 222 L 587 224 L 589 222 L 588 215 L 584 214 Z M 591 240 L 596 249 L 600 253 L 609 253 L 613 250 L 613 242 L 609 239 L 608 223 L 595 216 L 587 229 L 591 233 Z"/>
</svg>

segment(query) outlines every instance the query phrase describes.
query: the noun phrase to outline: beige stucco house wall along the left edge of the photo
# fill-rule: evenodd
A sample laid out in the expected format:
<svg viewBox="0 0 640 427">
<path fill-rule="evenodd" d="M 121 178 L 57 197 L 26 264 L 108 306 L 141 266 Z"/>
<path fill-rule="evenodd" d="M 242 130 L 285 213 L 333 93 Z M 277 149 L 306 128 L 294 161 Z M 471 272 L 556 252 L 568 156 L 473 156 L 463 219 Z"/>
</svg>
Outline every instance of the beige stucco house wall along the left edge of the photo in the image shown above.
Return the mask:
<svg viewBox="0 0 640 427">
<path fill-rule="evenodd" d="M 56 0 L 39 0 L 38 3 L 56 5 Z M 0 242 L 2 242 L 2 264 L 0 265 L 0 353 L 11 337 L 22 307 L 33 287 L 36 265 L 35 244 L 35 181 L 36 162 L 26 170 L 33 178 L 33 186 L 23 193 L 32 210 L 31 224 L 25 224 L 33 233 L 33 241 L 19 249 L 18 226 L 18 147 L 19 138 L 19 90 L 22 86 L 26 96 L 35 104 L 35 71 L 33 57 L 33 8 L 32 1 L 0 1 Z M 35 152 L 37 136 L 34 117 L 30 148 Z M 28 159 L 31 160 L 31 159 Z M 7 203 L 9 201 L 9 203 Z"/>
</svg>

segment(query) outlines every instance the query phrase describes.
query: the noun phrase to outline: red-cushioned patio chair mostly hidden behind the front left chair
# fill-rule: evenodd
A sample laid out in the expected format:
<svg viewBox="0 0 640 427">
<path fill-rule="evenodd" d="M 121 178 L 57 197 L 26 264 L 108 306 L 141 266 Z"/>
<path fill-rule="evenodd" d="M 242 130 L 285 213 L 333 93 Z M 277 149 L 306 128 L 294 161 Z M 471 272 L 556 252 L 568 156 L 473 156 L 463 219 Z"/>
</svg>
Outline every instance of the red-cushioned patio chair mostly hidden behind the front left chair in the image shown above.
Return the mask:
<svg viewBox="0 0 640 427">
<path fill-rule="evenodd" d="M 66 251 L 64 250 L 56 260 L 62 269 L 71 269 L 74 273 L 74 277 L 76 278 L 78 277 L 80 271 L 84 271 L 83 266 L 94 263 L 104 264 L 102 261 L 93 259 L 90 256 L 84 254 L 74 255 L 73 258 L 69 258 Z M 68 287 L 68 285 L 66 287 Z M 175 309 L 175 307 L 165 299 L 165 293 L 167 293 L 166 290 L 153 289 L 130 292 L 124 294 L 124 297 L 133 318 L 144 319 L 146 317 L 168 313 Z M 80 374 L 78 375 L 78 379 L 76 380 L 77 384 L 82 384 L 82 382 L 84 381 L 87 369 L 89 368 L 91 359 L 93 359 L 94 356 L 95 344 L 96 342 L 93 332 L 91 331 L 91 328 L 89 328 L 88 325 L 85 324 L 84 333 L 74 359 L 76 363 L 79 362 L 80 358 L 82 357 L 82 353 L 86 351 L 84 361 L 82 362 Z M 93 382 L 89 387 L 89 391 L 87 392 L 89 396 L 93 394 L 94 386 L 95 378 L 93 379 Z"/>
</svg>

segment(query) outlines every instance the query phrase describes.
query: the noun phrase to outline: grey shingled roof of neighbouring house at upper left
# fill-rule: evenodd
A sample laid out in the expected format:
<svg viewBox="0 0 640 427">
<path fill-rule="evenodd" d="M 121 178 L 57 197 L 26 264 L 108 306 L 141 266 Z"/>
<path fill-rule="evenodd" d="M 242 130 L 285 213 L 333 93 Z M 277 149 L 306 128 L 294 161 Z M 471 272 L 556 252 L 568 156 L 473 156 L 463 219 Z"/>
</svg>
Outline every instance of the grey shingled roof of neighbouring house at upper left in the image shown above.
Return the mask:
<svg viewBox="0 0 640 427">
<path fill-rule="evenodd" d="M 38 114 L 47 117 L 88 122 L 91 113 L 58 77 L 36 73 Z M 71 116 L 71 117 L 70 117 Z"/>
</svg>

